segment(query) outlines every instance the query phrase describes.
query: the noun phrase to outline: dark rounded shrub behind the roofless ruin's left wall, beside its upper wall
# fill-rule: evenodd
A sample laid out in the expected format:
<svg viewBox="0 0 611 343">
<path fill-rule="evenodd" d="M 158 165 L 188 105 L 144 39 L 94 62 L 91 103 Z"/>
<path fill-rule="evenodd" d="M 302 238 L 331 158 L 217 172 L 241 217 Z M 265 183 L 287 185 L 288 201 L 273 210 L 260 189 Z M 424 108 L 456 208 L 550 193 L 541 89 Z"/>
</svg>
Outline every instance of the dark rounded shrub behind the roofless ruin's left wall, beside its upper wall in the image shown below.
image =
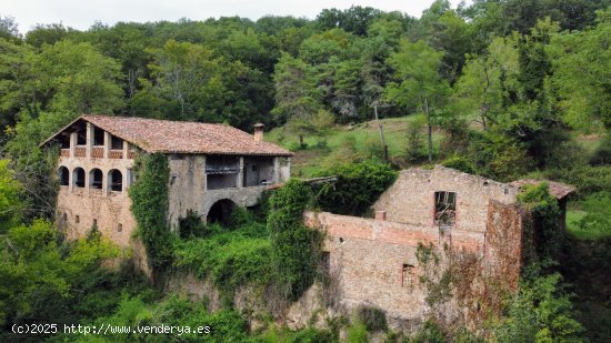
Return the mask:
<svg viewBox="0 0 611 343">
<path fill-rule="evenodd" d="M 338 181 L 318 186 L 318 205 L 333 213 L 362 214 L 394 182 L 397 174 L 390 164 L 373 160 L 329 169 L 320 175 L 335 175 Z"/>
</svg>

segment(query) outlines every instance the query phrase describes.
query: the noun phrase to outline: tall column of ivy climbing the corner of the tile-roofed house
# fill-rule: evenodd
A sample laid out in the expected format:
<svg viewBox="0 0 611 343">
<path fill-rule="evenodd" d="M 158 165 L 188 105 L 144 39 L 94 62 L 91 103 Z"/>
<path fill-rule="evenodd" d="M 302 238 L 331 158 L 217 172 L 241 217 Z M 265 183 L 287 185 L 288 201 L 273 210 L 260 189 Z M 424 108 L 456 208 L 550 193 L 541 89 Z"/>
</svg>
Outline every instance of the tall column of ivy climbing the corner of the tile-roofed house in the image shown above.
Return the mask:
<svg viewBox="0 0 611 343">
<path fill-rule="evenodd" d="M 147 249 L 153 270 L 171 262 L 171 235 L 168 230 L 168 189 L 170 167 L 162 153 L 141 154 L 134 165 L 136 182 L 129 189 L 131 212 L 138 223 L 138 234 Z"/>
</svg>

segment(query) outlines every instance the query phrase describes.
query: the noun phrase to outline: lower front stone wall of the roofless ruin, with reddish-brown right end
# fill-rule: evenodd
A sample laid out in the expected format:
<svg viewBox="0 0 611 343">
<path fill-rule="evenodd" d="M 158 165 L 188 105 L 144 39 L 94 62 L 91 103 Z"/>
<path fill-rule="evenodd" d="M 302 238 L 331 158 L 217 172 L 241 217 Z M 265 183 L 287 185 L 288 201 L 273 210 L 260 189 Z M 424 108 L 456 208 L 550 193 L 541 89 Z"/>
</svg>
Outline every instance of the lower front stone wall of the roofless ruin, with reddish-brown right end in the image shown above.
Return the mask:
<svg viewBox="0 0 611 343">
<path fill-rule="evenodd" d="M 307 212 L 304 221 L 325 233 L 331 303 L 344 313 L 359 305 L 380 307 L 393 327 L 409 331 L 430 315 L 447 323 L 481 324 L 482 306 L 497 309 L 501 291 L 517 289 L 528 213 L 499 201 L 483 210 L 484 232 L 443 232 L 433 225 L 384 221 L 381 215 Z M 421 264 L 419 244 L 431 246 L 439 263 Z M 453 296 L 433 306 L 425 301 L 429 290 L 421 276 L 439 281 L 447 271 L 457 274 Z"/>
</svg>

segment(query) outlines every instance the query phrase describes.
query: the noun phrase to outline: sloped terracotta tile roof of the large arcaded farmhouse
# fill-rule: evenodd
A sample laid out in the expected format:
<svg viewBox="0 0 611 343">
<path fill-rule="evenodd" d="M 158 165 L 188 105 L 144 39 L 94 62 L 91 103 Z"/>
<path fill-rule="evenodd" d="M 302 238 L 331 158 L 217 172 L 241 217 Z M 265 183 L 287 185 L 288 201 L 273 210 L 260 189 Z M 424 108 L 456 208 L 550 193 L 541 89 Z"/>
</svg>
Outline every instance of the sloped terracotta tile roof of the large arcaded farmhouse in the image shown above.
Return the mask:
<svg viewBox="0 0 611 343">
<path fill-rule="evenodd" d="M 42 144 L 81 120 L 151 153 L 292 155 L 286 149 L 258 142 L 252 134 L 224 124 L 91 114 L 81 115 Z"/>
</svg>

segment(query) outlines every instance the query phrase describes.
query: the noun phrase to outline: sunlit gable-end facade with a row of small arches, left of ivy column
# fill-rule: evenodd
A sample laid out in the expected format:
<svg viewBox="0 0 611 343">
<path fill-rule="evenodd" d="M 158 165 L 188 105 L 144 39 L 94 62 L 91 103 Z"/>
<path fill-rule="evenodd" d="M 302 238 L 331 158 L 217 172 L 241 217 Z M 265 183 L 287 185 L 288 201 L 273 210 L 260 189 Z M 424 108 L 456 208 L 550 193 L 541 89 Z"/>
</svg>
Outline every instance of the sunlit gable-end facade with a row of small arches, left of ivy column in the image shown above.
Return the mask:
<svg viewBox="0 0 611 343">
<path fill-rule="evenodd" d="M 69 239 L 84 236 L 96 225 L 102 235 L 127 248 L 136 229 L 127 192 L 133 167 L 132 147 L 122 142 L 122 149 L 111 149 L 108 132 L 108 144 L 94 145 L 94 128 L 86 128 L 86 144 L 77 144 L 77 132 L 71 132 L 70 148 L 61 150 L 58 161 L 58 222 Z M 82 157 L 76 153 L 79 150 L 83 151 Z M 112 184 L 111 172 L 120 175 L 120 184 Z"/>
</svg>

